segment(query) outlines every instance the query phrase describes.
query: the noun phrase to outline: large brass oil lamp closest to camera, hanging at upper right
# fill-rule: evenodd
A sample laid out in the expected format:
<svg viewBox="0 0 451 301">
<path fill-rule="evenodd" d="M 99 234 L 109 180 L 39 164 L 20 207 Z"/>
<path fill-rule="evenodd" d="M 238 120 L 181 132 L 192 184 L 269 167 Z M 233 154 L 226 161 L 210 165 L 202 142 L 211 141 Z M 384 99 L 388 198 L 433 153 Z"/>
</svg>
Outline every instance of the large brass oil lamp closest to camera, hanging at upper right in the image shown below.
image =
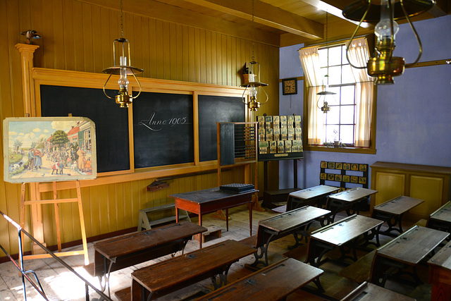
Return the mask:
<svg viewBox="0 0 451 301">
<path fill-rule="evenodd" d="M 413 66 L 418 62 L 423 51 L 421 40 L 410 21 L 410 17 L 428 11 L 434 4 L 435 0 L 400 0 L 399 2 L 395 2 L 395 0 L 381 0 L 381 5 L 371 4 L 371 0 L 359 0 L 347 6 L 342 11 L 343 16 L 350 20 L 360 21 L 359 26 L 351 37 L 351 42 L 362 22 L 377 23 L 374 29 L 374 34 L 376 35 L 375 56 L 369 59 L 367 66 L 354 66 L 350 62 L 351 66 L 354 68 L 368 68 L 368 74 L 377 78 L 376 84 L 395 83 L 393 77 L 401 75 L 404 72 L 404 67 Z M 416 41 L 419 44 L 418 57 L 413 63 L 407 64 L 404 63 L 404 58 L 393 56 L 395 35 L 399 29 L 395 20 L 404 18 L 407 19 L 410 27 L 412 27 Z M 346 57 L 350 44 L 346 50 Z M 349 61 L 348 57 L 347 59 Z"/>
</svg>

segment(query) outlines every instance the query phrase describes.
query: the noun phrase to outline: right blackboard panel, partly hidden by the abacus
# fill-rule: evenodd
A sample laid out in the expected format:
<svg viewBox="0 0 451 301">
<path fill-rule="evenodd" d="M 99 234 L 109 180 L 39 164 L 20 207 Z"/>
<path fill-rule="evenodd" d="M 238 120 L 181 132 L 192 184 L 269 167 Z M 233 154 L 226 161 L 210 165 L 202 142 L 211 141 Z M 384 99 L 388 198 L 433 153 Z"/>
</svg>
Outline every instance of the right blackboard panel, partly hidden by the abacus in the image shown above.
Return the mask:
<svg viewBox="0 0 451 301">
<path fill-rule="evenodd" d="M 241 97 L 199 95 L 199 160 L 218 159 L 217 122 L 244 122 Z"/>
</svg>

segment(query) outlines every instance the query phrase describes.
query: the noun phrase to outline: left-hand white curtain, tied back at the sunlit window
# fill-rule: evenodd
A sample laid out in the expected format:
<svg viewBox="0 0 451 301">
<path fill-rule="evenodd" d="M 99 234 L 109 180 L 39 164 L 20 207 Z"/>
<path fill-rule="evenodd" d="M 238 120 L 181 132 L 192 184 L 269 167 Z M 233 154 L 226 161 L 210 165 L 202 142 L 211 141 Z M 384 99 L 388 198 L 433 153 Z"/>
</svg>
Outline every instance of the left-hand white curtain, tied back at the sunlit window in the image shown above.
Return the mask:
<svg viewBox="0 0 451 301">
<path fill-rule="evenodd" d="M 318 48 L 299 49 L 299 59 L 307 82 L 308 91 L 308 133 L 307 141 L 309 145 L 322 145 L 324 131 L 324 113 L 316 105 L 318 97 L 316 94 L 321 92 L 322 78 L 321 68 L 319 67 Z"/>
</svg>

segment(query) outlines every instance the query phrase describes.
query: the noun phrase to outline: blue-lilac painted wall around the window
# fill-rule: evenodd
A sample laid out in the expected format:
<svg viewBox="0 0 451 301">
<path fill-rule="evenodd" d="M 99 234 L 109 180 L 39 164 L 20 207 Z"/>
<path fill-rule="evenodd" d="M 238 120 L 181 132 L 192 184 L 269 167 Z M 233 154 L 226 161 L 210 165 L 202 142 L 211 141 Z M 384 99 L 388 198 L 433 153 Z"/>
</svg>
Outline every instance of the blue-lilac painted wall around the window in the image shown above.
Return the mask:
<svg viewBox="0 0 451 301">
<path fill-rule="evenodd" d="M 414 23 L 423 44 L 420 61 L 451 59 L 451 16 Z M 418 55 L 416 39 L 408 24 L 400 25 L 395 56 L 412 63 Z M 303 76 L 297 50 L 280 48 L 280 78 Z M 284 96 L 280 87 L 280 115 L 303 113 L 304 83 L 297 95 Z M 298 162 L 298 187 L 319 185 L 320 161 L 373 164 L 390 161 L 407 164 L 451 166 L 451 65 L 407 68 L 395 85 L 377 88 L 376 154 L 304 152 Z M 280 161 L 279 187 L 292 188 L 293 162 Z"/>
</svg>

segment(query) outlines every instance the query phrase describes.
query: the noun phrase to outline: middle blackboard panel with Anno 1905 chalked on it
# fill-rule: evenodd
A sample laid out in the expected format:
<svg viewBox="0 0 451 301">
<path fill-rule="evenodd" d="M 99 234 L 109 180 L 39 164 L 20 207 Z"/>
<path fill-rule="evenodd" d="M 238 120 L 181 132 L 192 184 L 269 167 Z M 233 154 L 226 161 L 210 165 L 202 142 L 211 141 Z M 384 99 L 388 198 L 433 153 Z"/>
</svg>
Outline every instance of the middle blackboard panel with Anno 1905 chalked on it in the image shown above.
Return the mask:
<svg viewBox="0 0 451 301">
<path fill-rule="evenodd" d="M 194 162 L 191 94 L 142 92 L 133 102 L 135 168 Z"/>
</svg>

